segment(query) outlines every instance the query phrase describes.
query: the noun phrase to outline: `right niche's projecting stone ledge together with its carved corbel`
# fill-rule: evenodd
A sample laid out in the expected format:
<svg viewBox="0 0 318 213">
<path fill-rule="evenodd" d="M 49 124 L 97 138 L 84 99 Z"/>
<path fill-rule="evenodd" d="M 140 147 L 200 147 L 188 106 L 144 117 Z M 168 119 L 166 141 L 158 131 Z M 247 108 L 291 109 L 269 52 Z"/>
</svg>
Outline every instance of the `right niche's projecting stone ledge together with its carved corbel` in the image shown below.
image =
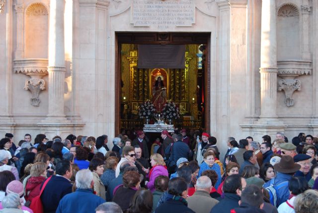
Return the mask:
<svg viewBox="0 0 318 213">
<path fill-rule="evenodd" d="M 296 90 L 301 90 L 301 82 L 295 78 L 300 75 L 310 75 L 313 69 L 311 65 L 312 61 L 308 60 L 277 61 L 277 75 L 282 78 L 278 81 L 277 90 L 285 92 L 286 106 L 294 106 L 295 100 L 292 95 Z"/>
</svg>

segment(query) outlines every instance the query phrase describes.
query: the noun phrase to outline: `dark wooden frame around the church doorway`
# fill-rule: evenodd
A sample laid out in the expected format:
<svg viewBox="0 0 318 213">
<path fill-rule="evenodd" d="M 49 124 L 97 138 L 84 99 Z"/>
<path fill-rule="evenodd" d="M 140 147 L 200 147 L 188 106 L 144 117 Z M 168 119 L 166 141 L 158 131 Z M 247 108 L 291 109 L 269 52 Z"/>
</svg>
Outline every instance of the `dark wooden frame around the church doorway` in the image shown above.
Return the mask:
<svg viewBox="0 0 318 213">
<path fill-rule="evenodd" d="M 116 32 L 115 33 L 115 135 L 120 132 L 120 58 L 121 44 L 205 44 L 206 45 L 206 72 L 205 72 L 205 129 L 210 131 L 210 76 L 211 76 L 211 59 L 210 45 L 211 33 L 159 33 L 159 32 Z"/>
</svg>

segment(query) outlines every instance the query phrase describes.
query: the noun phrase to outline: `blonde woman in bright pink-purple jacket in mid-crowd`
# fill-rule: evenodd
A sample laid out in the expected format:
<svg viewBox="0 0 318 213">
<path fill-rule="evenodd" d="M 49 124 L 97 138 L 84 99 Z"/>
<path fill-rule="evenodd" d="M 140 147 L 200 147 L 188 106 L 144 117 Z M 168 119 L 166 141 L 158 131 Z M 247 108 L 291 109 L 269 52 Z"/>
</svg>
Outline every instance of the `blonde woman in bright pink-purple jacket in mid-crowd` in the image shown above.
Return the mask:
<svg viewBox="0 0 318 213">
<path fill-rule="evenodd" d="M 151 192 L 155 191 L 155 179 L 159 175 L 164 175 L 168 177 L 168 170 L 165 166 L 165 162 L 162 158 L 162 156 L 158 153 L 152 155 L 150 157 L 150 163 L 152 168 L 150 169 L 148 173 L 149 181 L 146 181 L 145 184 Z"/>
</svg>

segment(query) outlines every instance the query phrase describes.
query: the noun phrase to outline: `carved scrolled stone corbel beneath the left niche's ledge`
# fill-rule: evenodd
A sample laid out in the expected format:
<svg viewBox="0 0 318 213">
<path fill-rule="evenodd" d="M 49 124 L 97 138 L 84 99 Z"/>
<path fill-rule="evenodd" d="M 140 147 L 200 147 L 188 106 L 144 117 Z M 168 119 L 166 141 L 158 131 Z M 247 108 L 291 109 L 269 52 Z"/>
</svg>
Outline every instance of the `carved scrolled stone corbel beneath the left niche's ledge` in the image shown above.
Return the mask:
<svg viewBox="0 0 318 213">
<path fill-rule="evenodd" d="M 32 106 L 39 106 L 39 94 L 41 90 L 45 90 L 45 81 L 43 79 L 28 79 L 25 81 L 25 90 L 30 90 L 32 93 L 31 104 Z"/>
</svg>

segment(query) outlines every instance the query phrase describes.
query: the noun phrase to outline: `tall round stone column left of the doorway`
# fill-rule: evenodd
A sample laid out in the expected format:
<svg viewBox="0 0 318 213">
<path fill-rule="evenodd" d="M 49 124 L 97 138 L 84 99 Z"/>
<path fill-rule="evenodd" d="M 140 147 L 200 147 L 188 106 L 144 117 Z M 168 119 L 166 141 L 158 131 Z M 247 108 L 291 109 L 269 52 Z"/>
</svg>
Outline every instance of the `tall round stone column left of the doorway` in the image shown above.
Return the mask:
<svg viewBox="0 0 318 213">
<path fill-rule="evenodd" d="M 65 0 L 50 1 L 49 113 L 47 120 L 66 120 L 64 114 L 64 6 Z"/>
</svg>

